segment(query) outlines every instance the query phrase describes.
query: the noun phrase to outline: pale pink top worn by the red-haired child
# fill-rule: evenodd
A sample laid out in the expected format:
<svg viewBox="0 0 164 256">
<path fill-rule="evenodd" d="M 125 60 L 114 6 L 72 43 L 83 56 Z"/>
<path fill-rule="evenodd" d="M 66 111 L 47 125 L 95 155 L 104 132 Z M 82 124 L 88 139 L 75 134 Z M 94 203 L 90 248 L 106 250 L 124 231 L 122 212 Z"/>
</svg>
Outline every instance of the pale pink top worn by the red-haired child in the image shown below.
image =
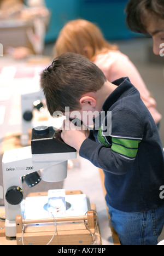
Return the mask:
<svg viewBox="0 0 164 256">
<path fill-rule="evenodd" d="M 119 50 L 108 51 L 108 53 L 97 55 L 94 63 L 103 71 L 110 83 L 121 77 L 129 77 L 131 83 L 140 92 L 140 97 L 149 109 L 155 123 L 159 123 L 162 116 L 156 109 L 156 101 L 150 96 L 150 92 L 140 77 L 137 68 L 126 55 L 122 54 Z"/>
</svg>

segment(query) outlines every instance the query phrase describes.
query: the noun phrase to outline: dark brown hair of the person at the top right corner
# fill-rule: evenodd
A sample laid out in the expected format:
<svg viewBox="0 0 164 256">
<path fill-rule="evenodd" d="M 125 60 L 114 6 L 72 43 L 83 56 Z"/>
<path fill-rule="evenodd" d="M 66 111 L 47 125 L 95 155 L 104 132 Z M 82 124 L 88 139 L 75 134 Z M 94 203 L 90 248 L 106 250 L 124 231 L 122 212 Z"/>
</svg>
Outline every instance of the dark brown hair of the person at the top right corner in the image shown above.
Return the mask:
<svg viewBox="0 0 164 256">
<path fill-rule="evenodd" d="M 164 20 L 163 0 L 130 0 L 125 10 L 127 26 L 134 32 L 147 34 L 152 17 Z"/>
</svg>

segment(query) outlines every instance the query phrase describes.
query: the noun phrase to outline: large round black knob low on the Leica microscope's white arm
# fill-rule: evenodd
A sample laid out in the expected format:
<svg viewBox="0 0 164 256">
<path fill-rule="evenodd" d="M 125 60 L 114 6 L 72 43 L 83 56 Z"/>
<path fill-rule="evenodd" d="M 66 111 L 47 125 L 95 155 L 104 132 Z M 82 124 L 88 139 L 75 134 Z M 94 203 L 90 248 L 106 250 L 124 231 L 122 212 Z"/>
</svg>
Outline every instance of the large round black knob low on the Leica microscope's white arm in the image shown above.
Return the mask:
<svg viewBox="0 0 164 256">
<path fill-rule="evenodd" d="M 5 194 L 5 199 L 10 205 L 19 205 L 24 199 L 23 190 L 17 186 L 10 187 Z"/>
</svg>

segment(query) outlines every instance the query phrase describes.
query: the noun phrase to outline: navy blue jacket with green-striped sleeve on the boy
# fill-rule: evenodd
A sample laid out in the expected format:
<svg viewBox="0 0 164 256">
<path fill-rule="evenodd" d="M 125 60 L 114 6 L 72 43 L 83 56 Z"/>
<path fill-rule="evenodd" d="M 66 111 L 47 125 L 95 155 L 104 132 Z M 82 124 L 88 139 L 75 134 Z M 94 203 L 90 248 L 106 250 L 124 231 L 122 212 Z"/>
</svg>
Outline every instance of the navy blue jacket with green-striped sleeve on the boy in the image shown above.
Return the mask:
<svg viewBox="0 0 164 256">
<path fill-rule="evenodd" d="M 100 127 L 81 145 L 79 154 L 102 168 L 106 201 L 125 212 L 153 210 L 164 204 L 164 154 L 159 131 L 138 90 L 128 78 L 118 85 L 103 104 L 106 113 Z M 112 132 L 107 134 L 108 113 L 112 112 Z"/>
</svg>

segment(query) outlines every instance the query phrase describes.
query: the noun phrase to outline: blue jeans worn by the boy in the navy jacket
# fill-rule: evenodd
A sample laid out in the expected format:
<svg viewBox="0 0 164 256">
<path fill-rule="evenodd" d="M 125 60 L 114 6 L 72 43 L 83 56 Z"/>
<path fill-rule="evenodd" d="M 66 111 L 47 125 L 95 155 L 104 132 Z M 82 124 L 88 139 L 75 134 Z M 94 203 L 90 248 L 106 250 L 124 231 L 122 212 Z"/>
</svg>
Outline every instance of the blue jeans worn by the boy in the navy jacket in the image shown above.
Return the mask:
<svg viewBox="0 0 164 256">
<path fill-rule="evenodd" d="M 108 208 L 110 223 L 121 245 L 157 245 L 164 225 L 164 205 L 145 212 L 121 212 L 109 205 Z"/>
</svg>

